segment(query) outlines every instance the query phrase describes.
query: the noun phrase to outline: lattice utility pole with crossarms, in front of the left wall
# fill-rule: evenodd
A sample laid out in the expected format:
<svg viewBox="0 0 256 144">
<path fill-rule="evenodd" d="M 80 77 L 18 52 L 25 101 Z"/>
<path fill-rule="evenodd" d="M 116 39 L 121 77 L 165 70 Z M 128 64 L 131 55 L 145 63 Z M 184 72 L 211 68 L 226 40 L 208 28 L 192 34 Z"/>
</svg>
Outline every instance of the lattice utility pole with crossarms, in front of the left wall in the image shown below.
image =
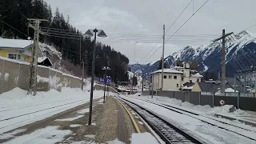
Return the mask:
<svg viewBox="0 0 256 144">
<path fill-rule="evenodd" d="M 27 94 L 37 94 L 37 77 L 38 77 L 38 49 L 39 49 L 39 34 L 45 34 L 40 30 L 41 22 L 48 22 L 47 19 L 37 19 L 37 18 L 27 18 L 29 23 L 29 27 L 34 29 L 34 44 L 32 46 L 32 61 L 30 62 L 30 86 L 27 91 Z M 32 25 L 31 23 L 34 23 Z"/>
</svg>

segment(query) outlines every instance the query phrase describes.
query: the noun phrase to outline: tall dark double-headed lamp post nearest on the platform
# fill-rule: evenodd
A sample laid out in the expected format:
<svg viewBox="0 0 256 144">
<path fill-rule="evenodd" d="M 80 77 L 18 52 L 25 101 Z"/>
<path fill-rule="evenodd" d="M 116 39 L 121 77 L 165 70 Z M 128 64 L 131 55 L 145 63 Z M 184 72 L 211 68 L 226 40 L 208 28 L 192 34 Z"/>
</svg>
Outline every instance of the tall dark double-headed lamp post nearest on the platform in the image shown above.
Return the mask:
<svg viewBox="0 0 256 144">
<path fill-rule="evenodd" d="M 107 37 L 103 30 L 87 30 L 86 36 L 92 37 L 94 36 L 94 51 L 93 51 L 93 64 L 91 66 L 91 82 L 90 82 L 90 113 L 89 113 L 89 121 L 88 125 L 91 124 L 91 116 L 93 109 L 93 98 L 94 98 L 94 69 L 95 69 L 95 55 L 96 55 L 96 34 L 98 33 L 98 37 Z"/>
</svg>

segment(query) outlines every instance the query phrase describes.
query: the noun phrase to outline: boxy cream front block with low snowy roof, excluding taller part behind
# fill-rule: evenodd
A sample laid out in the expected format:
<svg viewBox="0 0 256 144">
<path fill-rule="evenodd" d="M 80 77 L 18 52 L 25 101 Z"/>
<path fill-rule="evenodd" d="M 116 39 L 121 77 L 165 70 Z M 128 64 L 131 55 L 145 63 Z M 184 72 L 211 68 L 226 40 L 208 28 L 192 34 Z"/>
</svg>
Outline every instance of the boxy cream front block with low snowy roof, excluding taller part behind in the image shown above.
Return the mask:
<svg viewBox="0 0 256 144">
<path fill-rule="evenodd" d="M 182 84 L 182 71 L 175 69 L 163 70 L 163 88 L 162 90 L 180 90 Z M 161 89 L 162 70 L 156 70 L 151 73 L 153 90 Z"/>
</svg>

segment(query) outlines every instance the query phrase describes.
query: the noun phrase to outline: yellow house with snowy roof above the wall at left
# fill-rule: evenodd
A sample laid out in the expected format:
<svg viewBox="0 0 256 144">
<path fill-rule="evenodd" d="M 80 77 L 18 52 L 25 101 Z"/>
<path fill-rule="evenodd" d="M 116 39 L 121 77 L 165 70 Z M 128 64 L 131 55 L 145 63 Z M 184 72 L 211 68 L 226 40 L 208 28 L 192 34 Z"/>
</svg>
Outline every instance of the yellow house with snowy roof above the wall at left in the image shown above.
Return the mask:
<svg viewBox="0 0 256 144">
<path fill-rule="evenodd" d="M 31 62 L 33 43 L 31 40 L 0 38 L 0 56 L 22 62 Z M 39 49 L 38 57 L 42 56 L 42 51 Z"/>
</svg>

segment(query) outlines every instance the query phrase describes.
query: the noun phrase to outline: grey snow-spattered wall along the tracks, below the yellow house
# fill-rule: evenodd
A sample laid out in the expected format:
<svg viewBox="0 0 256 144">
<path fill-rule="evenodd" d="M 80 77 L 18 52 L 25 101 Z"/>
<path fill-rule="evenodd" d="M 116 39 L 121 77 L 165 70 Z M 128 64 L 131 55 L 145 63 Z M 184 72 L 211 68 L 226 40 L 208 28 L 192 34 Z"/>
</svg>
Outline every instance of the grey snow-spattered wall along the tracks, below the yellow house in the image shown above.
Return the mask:
<svg viewBox="0 0 256 144">
<path fill-rule="evenodd" d="M 61 91 L 62 87 L 81 88 L 82 80 L 47 66 L 38 66 L 38 91 L 51 89 Z M 30 63 L 9 58 L 0 58 L 0 94 L 19 87 L 28 90 L 30 86 Z"/>
</svg>

